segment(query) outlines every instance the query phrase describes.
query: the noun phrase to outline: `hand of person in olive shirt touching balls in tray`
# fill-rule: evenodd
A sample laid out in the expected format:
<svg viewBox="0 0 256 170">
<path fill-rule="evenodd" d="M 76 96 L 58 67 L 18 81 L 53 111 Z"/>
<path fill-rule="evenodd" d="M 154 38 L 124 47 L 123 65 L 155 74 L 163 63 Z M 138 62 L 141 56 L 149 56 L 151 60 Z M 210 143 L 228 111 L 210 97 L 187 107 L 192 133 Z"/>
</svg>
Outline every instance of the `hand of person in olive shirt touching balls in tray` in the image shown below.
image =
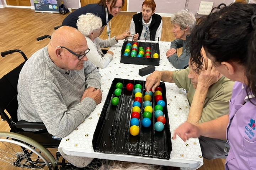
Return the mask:
<svg viewBox="0 0 256 170">
<path fill-rule="evenodd" d="M 152 89 L 152 92 L 155 92 L 155 88 L 160 85 L 160 81 L 162 78 L 162 72 L 160 71 L 154 71 L 152 74 L 150 74 L 146 78 L 146 84 L 145 88 L 147 89 L 147 92 L 149 92 L 150 89 Z"/>
</svg>

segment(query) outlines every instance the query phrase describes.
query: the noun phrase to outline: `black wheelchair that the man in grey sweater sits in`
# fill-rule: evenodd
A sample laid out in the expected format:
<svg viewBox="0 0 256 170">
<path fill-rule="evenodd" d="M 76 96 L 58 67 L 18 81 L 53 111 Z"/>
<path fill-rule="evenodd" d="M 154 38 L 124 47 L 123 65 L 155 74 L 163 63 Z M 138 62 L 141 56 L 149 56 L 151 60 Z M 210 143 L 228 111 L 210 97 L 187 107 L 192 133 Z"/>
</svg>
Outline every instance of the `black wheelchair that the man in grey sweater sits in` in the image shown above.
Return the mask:
<svg viewBox="0 0 256 170">
<path fill-rule="evenodd" d="M 47 35 L 39 39 L 50 38 Z M 39 40 L 38 40 L 39 41 Z M 57 151 L 56 158 L 47 148 L 58 148 L 61 140 L 49 134 L 43 123 L 31 123 L 17 119 L 17 84 L 20 71 L 27 61 L 21 50 L 1 52 L 1 56 L 19 52 L 24 62 L 0 79 L 0 115 L 2 121 L 10 126 L 10 132 L 0 132 L 0 169 L 73 169 L 65 159 L 59 162 L 61 154 Z M 7 113 L 9 114 L 7 114 Z M 24 131 L 22 129 L 43 129 L 40 131 Z M 72 167 L 72 168 L 70 168 Z"/>
</svg>

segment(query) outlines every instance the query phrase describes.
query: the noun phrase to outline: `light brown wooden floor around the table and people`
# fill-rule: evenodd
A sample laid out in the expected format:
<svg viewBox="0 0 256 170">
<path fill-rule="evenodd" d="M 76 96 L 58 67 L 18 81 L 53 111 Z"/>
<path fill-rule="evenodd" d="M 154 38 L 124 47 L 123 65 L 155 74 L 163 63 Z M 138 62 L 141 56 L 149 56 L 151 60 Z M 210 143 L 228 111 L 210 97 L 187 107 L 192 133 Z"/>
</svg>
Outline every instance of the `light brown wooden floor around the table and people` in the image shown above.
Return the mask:
<svg viewBox="0 0 256 170">
<path fill-rule="evenodd" d="M 34 10 L 25 8 L 0 8 L 0 52 L 20 49 L 27 57 L 46 46 L 49 39 L 37 41 L 42 35 L 51 35 L 54 27 L 61 25 L 66 15 L 55 13 L 36 13 Z M 129 30 L 132 14 L 119 14 L 112 19 L 111 37 Z M 161 41 L 172 41 L 172 25 L 170 17 L 162 17 Z M 105 28 L 106 29 L 106 28 Z M 100 38 L 106 39 L 106 30 Z M 178 50 L 178 54 L 181 49 Z M 6 57 L 0 57 L 0 78 L 10 70 L 17 67 L 23 58 L 19 53 Z M 0 131 L 9 131 L 6 122 L 0 121 Z M 52 150 L 54 152 L 54 150 Z M 204 160 L 204 165 L 199 170 L 224 170 L 225 159 Z"/>
</svg>

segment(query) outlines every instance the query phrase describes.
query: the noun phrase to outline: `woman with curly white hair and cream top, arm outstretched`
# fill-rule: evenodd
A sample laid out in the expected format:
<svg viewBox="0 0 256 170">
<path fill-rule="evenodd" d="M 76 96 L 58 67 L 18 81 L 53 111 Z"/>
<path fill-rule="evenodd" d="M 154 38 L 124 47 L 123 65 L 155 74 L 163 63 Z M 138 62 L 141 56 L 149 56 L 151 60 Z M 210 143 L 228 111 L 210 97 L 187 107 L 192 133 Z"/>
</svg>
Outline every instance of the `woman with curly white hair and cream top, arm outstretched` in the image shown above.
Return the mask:
<svg viewBox="0 0 256 170">
<path fill-rule="evenodd" d="M 111 39 L 102 40 L 98 36 L 101 33 L 102 21 L 100 17 L 95 16 L 93 13 L 86 13 L 86 15 L 80 15 L 76 23 L 78 30 L 84 34 L 88 48 L 90 52 L 86 54 L 86 57 L 94 63 L 98 68 L 105 68 L 108 63 L 113 59 L 114 53 L 107 51 L 104 55 L 101 48 L 107 48 L 118 43 L 118 40 L 123 40 L 130 35 L 129 31 L 125 31 L 123 34 L 114 36 Z"/>
</svg>

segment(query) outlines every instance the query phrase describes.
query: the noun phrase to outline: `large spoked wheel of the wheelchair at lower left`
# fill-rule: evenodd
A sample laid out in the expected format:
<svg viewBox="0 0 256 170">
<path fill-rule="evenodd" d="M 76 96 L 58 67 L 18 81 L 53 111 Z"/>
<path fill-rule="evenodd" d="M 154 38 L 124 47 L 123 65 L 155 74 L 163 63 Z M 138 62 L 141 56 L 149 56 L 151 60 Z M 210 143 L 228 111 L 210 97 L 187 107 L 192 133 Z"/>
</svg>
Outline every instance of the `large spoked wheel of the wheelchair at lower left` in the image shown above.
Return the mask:
<svg viewBox="0 0 256 170">
<path fill-rule="evenodd" d="M 0 170 L 52 170 L 55 158 L 38 142 L 24 135 L 0 132 Z"/>
</svg>

